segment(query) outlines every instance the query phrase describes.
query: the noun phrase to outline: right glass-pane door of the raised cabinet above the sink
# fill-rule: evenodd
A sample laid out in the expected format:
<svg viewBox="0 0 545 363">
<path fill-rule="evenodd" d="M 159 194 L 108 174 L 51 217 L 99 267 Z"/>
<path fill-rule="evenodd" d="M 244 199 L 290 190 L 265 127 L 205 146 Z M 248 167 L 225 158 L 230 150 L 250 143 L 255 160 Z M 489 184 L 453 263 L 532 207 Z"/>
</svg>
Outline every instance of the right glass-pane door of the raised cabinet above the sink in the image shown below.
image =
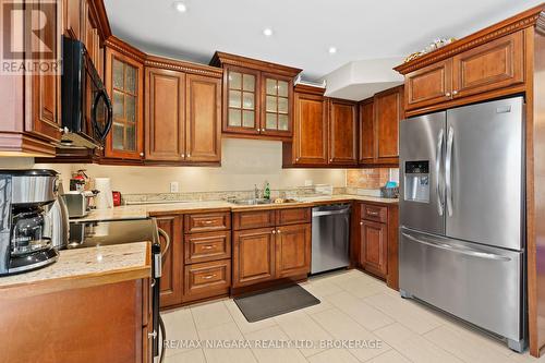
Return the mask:
<svg viewBox="0 0 545 363">
<path fill-rule="evenodd" d="M 263 74 L 262 85 L 262 133 L 278 136 L 291 135 L 292 80 L 290 77 Z"/>
</svg>

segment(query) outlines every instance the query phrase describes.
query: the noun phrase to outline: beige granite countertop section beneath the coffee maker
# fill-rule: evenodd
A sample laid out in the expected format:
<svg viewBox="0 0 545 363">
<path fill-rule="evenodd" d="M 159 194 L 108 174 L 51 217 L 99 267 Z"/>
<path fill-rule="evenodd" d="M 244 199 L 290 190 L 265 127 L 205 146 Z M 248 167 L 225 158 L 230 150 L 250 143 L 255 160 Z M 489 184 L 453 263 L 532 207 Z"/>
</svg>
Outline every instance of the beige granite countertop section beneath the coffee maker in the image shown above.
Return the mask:
<svg viewBox="0 0 545 363">
<path fill-rule="evenodd" d="M 34 271 L 0 277 L 0 300 L 152 276 L 149 242 L 64 250 Z"/>
</svg>

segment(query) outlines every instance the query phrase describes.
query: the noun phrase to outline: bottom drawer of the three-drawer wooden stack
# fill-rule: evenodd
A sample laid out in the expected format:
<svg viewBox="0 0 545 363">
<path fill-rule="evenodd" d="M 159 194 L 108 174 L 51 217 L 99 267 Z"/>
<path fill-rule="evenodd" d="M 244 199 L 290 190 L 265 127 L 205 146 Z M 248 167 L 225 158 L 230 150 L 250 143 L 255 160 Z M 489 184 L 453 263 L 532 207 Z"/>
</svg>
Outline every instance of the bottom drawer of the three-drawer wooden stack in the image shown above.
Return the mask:
<svg viewBox="0 0 545 363">
<path fill-rule="evenodd" d="M 184 301 L 226 294 L 230 286 L 231 259 L 186 265 L 184 268 Z"/>
</svg>

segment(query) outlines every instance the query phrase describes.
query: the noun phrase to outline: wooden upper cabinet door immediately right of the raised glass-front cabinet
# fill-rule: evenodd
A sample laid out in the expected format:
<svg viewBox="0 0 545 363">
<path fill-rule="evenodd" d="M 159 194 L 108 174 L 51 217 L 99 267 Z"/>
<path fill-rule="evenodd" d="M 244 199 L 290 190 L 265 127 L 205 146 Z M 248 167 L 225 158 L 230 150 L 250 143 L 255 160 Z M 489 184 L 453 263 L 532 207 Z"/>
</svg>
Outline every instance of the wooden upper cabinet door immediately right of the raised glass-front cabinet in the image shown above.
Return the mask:
<svg viewBox="0 0 545 363">
<path fill-rule="evenodd" d="M 298 84 L 293 97 L 293 142 L 283 143 L 283 166 L 326 166 L 328 114 L 325 88 Z"/>
</svg>

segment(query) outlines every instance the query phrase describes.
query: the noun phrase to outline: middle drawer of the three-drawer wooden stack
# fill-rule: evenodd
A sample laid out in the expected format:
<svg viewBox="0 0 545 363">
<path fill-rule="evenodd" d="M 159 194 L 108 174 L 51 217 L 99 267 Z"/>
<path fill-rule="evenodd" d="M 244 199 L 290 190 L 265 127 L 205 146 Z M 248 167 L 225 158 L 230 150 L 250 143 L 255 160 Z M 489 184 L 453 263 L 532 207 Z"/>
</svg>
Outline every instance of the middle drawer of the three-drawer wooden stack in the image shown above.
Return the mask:
<svg viewBox="0 0 545 363">
<path fill-rule="evenodd" d="M 185 234 L 185 264 L 231 258 L 231 232 Z"/>
</svg>

